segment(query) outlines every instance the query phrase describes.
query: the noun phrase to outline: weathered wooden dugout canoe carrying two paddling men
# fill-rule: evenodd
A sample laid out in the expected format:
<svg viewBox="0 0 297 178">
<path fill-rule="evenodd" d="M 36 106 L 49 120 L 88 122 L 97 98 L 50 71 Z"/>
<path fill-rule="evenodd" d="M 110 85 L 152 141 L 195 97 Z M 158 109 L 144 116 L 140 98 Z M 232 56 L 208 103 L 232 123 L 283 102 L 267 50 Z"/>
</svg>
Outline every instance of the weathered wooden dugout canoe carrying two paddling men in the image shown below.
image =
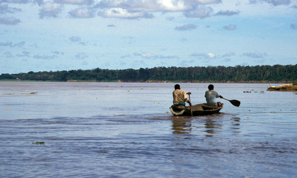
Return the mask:
<svg viewBox="0 0 297 178">
<path fill-rule="evenodd" d="M 200 115 L 211 115 L 218 113 L 224 106 L 224 103 L 220 103 L 220 107 L 216 106 L 207 106 L 206 103 L 192 105 L 192 114 L 193 116 Z M 191 116 L 191 111 L 187 109 L 176 110 L 170 107 L 170 111 L 175 116 Z"/>
</svg>

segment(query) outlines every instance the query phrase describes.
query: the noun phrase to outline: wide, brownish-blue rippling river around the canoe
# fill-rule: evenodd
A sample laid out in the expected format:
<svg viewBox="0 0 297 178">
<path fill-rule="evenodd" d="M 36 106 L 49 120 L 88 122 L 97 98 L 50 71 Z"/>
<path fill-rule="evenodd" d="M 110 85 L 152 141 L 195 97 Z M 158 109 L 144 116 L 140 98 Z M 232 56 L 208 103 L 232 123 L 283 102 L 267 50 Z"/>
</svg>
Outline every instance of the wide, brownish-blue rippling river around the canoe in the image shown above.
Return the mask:
<svg viewBox="0 0 297 178">
<path fill-rule="evenodd" d="M 205 102 L 208 83 L 179 84 Z M 174 85 L 0 82 L 0 177 L 297 176 L 295 92 L 214 83 L 241 105 L 177 117 Z"/>
</svg>

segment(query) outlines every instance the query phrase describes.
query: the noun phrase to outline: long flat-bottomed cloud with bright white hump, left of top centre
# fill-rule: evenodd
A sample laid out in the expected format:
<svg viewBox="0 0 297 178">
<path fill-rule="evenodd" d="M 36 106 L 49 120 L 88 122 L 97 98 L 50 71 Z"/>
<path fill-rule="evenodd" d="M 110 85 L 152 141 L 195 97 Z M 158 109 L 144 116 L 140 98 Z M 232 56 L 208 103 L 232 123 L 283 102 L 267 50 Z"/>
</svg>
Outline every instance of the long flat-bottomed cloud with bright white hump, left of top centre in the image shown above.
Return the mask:
<svg viewBox="0 0 297 178">
<path fill-rule="evenodd" d="M 104 11 L 99 11 L 98 16 L 104 18 L 154 18 L 154 15 L 148 12 L 129 12 L 127 9 L 122 8 L 112 8 L 106 9 Z"/>
</svg>

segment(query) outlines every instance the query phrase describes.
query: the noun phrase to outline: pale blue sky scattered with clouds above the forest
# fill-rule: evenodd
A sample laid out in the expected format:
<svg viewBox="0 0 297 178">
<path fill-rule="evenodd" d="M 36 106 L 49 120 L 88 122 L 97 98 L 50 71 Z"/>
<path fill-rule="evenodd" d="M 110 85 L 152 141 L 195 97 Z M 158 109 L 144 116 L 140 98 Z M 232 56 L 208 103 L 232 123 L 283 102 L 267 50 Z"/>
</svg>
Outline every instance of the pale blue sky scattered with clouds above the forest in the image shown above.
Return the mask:
<svg viewBox="0 0 297 178">
<path fill-rule="evenodd" d="M 0 0 L 0 74 L 297 64 L 297 0 Z"/>
</svg>

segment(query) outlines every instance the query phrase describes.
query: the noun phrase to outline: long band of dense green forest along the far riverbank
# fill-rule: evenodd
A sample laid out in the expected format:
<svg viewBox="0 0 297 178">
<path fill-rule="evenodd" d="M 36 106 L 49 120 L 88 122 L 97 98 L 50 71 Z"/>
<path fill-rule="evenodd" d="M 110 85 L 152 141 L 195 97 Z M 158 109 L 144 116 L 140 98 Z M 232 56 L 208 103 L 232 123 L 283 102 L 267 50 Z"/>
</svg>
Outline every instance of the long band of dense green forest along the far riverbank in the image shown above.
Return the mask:
<svg viewBox="0 0 297 178">
<path fill-rule="evenodd" d="M 91 69 L 1 74 L 0 80 L 123 81 L 123 82 L 293 82 L 296 65 L 154 67 L 140 69 Z"/>
</svg>

